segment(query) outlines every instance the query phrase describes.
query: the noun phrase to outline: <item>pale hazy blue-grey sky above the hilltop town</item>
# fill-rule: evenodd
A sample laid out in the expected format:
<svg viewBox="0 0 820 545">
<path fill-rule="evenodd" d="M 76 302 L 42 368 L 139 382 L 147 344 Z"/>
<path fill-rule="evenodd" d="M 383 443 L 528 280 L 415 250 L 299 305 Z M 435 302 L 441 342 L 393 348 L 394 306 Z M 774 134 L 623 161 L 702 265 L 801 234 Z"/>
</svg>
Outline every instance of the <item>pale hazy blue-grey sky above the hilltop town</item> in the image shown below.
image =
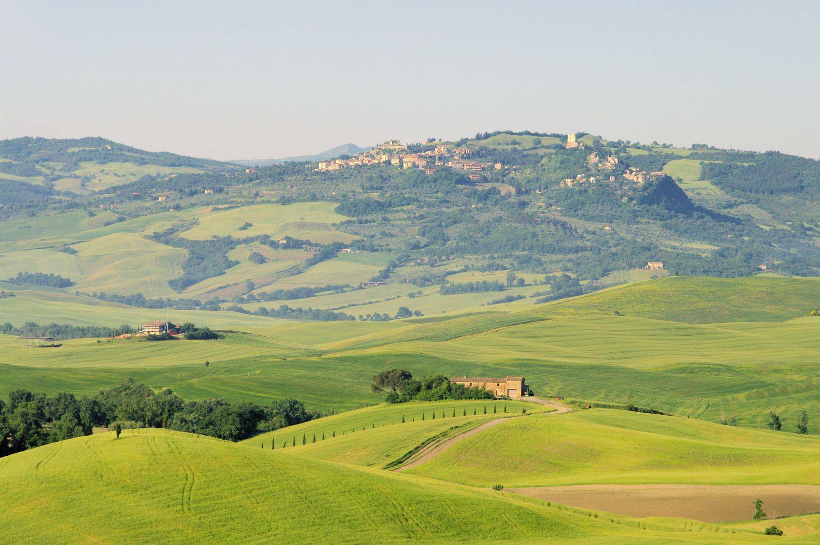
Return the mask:
<svg viewBox="0 0 820 545">
<path fill-rule="evenodd" d="M 820 2 L 0 0 L 0 139 L 276 158 L 500 129 L 820 158 Z"/>
</svg>

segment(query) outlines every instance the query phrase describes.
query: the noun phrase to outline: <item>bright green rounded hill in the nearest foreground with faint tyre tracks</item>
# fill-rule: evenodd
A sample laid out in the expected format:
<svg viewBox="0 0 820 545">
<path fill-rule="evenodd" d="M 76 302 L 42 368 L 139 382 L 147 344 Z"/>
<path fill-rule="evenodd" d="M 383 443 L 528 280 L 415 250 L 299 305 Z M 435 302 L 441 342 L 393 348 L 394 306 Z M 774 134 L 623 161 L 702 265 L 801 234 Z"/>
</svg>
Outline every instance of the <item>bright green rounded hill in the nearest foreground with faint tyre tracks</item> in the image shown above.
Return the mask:
<svg viewBox="0 0 820 545">
<path fill-rule="evenodd" d="M 154 429 L 8 456 L 0 479 L 16 543 L 763 542 Z"/>
</svg>

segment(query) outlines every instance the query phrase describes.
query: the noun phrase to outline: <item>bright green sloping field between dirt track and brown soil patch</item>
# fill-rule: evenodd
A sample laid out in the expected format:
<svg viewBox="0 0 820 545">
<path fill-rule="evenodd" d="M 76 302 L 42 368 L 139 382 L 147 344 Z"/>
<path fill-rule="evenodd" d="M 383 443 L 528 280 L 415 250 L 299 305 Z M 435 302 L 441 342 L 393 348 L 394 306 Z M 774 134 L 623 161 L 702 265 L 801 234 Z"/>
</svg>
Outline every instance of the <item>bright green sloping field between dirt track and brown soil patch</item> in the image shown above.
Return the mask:
<svg viewBox="0 0 820 545">
<path fill-rule="evenodd" d="M 593 409 L 511 420 L 408 473 L 479 487 L 820 484 L 818 452 L 817 437 Z"/>
</svg>

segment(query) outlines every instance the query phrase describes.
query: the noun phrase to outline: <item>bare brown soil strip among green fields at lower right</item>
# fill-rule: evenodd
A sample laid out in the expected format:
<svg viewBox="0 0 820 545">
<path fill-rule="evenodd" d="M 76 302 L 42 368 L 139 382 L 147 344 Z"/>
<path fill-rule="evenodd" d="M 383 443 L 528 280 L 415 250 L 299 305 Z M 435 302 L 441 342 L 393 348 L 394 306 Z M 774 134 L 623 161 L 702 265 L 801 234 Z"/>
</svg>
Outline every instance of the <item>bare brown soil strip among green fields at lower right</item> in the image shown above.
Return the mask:
<svg viewBox="0 0 820 545">
<path fill-rule="evenodd" d="M 618 515 L 676 516 L 704 522 L 750 520 L 758 498 L 769 517 L 820 511 L 820 486 L 809 484 L 585 484 L 507 490 Z"/>
</svg>

